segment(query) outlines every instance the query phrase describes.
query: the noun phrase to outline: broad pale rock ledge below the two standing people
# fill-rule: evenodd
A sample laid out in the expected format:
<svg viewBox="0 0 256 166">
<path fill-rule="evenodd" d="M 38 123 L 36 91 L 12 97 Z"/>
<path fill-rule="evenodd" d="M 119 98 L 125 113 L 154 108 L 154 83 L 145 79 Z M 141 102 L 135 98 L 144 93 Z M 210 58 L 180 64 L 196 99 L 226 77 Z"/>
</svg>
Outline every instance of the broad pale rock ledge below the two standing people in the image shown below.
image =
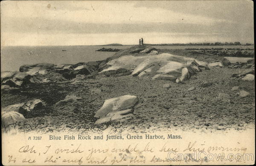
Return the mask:
<svg viewBox="0 0 256 166">
<path fill-rule="evenodd" d="M 137 52 L 138 49 L 143 48 L 137 48 L 132 52 Z M 118 69 L 127 69 L 133 70 L 133 76 L 149 77 L 153 80 L 172 80 L 181 83 L 188 80 L 191 75 L 201 72 L 199 64 L 193 58 L 167 53 L 157 55 L 146 54 L 149 51 L 151 52 L 151 49 L 145 48 L 139 53 L 130 53 L 115 59 L 112 57 L 106 63 L 109 67 L 99 73 L 115 74 Z"/>
</svg>

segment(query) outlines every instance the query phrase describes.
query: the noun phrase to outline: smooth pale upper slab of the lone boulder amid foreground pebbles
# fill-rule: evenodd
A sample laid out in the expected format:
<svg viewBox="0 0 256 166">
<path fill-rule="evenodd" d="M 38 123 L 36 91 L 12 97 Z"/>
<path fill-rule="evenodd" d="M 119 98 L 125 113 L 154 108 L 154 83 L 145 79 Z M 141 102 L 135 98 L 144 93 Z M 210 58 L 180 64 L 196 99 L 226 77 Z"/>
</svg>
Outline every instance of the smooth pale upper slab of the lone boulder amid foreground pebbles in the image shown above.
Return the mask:
<svg viewBox="0 0 256 166">
<path fill-rule="evenodd" d="M 94 117 L 105 117 L 109 112 L 117 112 L 131 109 L 138 101 L 137 96 L 124 95 L 112 99 L 105 100 L 102 108 L 100 108 Z"/>
</svg>

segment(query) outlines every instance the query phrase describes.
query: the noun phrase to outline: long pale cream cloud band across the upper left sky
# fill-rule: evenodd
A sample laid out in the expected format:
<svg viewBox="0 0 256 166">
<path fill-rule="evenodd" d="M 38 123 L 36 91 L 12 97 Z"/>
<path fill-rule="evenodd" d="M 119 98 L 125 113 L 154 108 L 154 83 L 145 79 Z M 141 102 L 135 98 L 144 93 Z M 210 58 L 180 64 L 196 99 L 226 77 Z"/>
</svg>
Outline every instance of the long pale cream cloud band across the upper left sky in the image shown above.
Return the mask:
<svg viewBox="0 0 256 166">
<path fill-rule="evenodd" d="M 109 1 L 70 2 L 70 7 L 55 2 L 55 7 L 43 1 L 8 1 L 3 6 L 5 17 L 45 18 L 86 23 L 192 23 L 210 25 L 222 21 L 202 15 L 183 14 L 167 9 L 134 7 L 134 2 L 113 3 Z M 67 3 L 67 2 L 66 2 Z M 59 5 L 58 5 L 59 4 Z M 74 6 L 74 4 L 76 4 Z M 48 7 L 47 7 L 48 6 Z M 56 8 L 58 10 L 52 10 Z M 81 8 L 81 9 L 80 9 Z"/>
</svg>

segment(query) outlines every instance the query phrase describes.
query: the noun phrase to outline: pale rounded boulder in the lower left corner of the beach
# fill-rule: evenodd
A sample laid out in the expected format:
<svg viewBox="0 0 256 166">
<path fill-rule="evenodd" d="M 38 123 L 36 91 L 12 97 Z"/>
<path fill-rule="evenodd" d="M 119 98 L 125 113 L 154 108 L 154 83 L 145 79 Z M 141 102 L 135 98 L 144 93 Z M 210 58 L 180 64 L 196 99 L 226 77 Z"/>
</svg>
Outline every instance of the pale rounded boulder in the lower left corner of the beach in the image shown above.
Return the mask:
<svg viewBox="0 0 256 166">
<path fill-rule="evenodd" d="M 18 122 L 25 118 L 18 112 L 4 112 L 1 114 L 1 126 L 4 132 L 16 134 L 18 130 Z"/>
</svg>

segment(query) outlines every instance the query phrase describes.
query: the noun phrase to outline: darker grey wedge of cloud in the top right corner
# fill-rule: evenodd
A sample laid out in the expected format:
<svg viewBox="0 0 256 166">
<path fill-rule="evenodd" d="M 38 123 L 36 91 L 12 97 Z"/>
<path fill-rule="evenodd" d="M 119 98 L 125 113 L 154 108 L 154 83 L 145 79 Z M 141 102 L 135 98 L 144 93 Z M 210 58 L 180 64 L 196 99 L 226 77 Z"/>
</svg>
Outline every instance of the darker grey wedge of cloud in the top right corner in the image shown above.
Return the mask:
<svg viewBox="0 0 256 166">
<path fill-rule="evenodd" d="M 251 0 L 170 0 L 157 3 L 154 1 L 136 1 L 134 7 L 166 9 L 183 14 L 201 15 L 215 20 L 253 23 L 253 1 Z"/>
</svg>

